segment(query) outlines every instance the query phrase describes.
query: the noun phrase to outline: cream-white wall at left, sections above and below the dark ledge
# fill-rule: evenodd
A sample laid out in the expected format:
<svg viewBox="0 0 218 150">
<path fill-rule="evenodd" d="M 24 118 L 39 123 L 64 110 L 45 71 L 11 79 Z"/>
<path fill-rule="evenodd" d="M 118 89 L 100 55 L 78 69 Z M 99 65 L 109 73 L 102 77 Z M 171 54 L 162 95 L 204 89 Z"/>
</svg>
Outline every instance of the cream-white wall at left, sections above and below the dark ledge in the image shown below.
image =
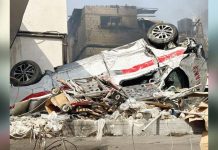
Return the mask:
<svg viewBox="0 0 218 150">
<path fill-rule="evenodd" d="M 66 0 L 29 0 L 20 31 L 66 34 Z M 42 71 L 53 71 L 63 65 L 62 46 L 61 39 L 17 36 L 11 48 L 11 67 L 22 60 L 33 60 Z"/>
</svg>

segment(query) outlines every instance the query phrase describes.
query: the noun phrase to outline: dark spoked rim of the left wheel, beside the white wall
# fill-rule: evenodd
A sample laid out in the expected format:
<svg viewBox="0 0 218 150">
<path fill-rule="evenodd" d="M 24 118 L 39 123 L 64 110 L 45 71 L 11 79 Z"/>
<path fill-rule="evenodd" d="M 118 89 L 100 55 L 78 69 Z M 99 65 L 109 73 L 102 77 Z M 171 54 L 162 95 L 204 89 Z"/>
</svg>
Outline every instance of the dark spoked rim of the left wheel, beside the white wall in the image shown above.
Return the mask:
<svg viewBox="0 0 218 150">
<path fill-rule="evenodd" d="M 35 68 L 31 64 L 23 63 L 14 69 L 13 76 L 19 82 L 27 82 L 31 80 L 35 73 Z"/>
</svg>

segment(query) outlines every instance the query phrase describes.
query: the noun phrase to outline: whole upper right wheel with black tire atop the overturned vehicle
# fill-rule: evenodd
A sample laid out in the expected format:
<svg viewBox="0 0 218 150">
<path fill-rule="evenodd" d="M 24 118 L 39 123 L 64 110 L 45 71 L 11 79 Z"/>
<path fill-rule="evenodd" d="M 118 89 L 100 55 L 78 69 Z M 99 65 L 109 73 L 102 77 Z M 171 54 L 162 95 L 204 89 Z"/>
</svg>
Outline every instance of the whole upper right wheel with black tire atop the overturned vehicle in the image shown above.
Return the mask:
<svg viewBox="0 0 218 150">
<path fill-rule="evenodd" d="M 170 42 L 176 43 L 178 30 L 172 24 L 157 23 L 149 28 L 147 37 L 152 45 L 162 48 Z"/>
</svg>

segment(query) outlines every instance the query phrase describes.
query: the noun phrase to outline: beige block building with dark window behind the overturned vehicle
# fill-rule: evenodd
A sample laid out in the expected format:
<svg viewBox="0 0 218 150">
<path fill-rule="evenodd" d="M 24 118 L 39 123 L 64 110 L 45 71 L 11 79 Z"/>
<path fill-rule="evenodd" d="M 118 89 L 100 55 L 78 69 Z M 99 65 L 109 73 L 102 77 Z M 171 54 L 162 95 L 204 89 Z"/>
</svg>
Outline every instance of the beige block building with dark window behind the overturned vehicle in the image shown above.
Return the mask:
<svg viewBox="0 0 218 150">
<path fill-rule="evenodd" d="M 68 20 L 72 61 L 143 37 L 135 6 L 85 6 L 74 9 Z"/>
</svg>

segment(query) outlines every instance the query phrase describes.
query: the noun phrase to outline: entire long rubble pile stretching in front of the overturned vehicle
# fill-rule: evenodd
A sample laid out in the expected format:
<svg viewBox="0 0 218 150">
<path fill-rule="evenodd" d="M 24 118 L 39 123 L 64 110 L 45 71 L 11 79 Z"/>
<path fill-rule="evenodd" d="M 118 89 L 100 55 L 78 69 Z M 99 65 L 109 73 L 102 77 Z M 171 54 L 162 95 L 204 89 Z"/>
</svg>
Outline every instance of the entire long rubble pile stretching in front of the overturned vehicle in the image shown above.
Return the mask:
<svg viewBox="0 0 218 150">
<path fill-rule="evenodd" d="M 101 124 L 97 131 L 97 139 L 100 139 L 105 122 L 108 120 L 155 121 L 159 118 L 177 117 L 186 119 L 186 114 L 189 114 L 198 103 L 207 100 L 208 96 L 205 92 L 196 92 L 198 86 L 195 86 L 180 90 L 175 87 L 165 91 L 156 89 L 140 97 L 131 97 L 126 94 L 123 87 L 100 77 L 59 80 L 59 83 L 60 86 L 53 88 L 47 96 L 39 97 L 38 101 L 42 101 L 32 110 L 20 107 L 19 104 L 15 105 L 11 113 L 16 116 L 10 118 L 11 137 L 36 137 L 41 135 L 42 131 L 47 137 L 52 137 L 55 133 L 60 135 L 66 120 L 87 119 L 96 120 L 97 125 Z M 138 85 L 142 87 L 142 91 L 143 88 L 147 88 L 147 85 L 144 85 Z M 134 93 L 133 86 L 125 88 Z M 135 93 L 137 94 L 140 93 Z M 197 97 L 197 101 L 188 104 L 189 97 Z M 24 102 L 20 103 L 23 105 Z M 21 108 L 29 111 L 25 112 L 20 110 Z M 143 126 L 140 129 L 143 130 Z"/>
</svg>

